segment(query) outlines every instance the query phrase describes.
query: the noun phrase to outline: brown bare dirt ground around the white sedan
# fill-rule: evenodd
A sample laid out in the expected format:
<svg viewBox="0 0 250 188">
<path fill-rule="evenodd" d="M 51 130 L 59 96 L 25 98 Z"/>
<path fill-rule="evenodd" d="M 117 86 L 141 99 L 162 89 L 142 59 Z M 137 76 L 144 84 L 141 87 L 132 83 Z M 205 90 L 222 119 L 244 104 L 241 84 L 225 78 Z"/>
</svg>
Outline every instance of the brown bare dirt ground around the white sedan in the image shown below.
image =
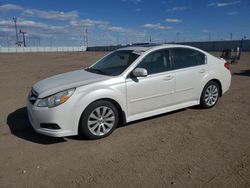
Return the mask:
<svg viewBox="0 0 250 188">
<path fill-rule="evenodd" d="M 137 121 L 97 141 L 36 134 L 31 86 L 104 54 L 0 54 L 0 187 L 250 187 L 250 53 L 231 66 L 232 86 L 213 109 Z"/>
</svg>

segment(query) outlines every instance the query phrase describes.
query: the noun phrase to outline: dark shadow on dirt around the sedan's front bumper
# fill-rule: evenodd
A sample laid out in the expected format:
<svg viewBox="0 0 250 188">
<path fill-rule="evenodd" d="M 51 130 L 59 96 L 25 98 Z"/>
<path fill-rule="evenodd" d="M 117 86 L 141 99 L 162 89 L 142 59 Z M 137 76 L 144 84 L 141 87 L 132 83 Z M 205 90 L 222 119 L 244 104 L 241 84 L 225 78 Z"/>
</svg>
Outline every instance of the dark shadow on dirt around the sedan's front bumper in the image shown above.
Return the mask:
<svg viewBox="0 0 250 188">
<path fill-rule="evenodd" d="M 29 123 L 26 107 L 10 113 L 7 117 L 7 124 L 13 135 L 30 142 L 49 145 L 66 141 L 64 138 L 54 138 L 36 133 Z"/>
</svg>

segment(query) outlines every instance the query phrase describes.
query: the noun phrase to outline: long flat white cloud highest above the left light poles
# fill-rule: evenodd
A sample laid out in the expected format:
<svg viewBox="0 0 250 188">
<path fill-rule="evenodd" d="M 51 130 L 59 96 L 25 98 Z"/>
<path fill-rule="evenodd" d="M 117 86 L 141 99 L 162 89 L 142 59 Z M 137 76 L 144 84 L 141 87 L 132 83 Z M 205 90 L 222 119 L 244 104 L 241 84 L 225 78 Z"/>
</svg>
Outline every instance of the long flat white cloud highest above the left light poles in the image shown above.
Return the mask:
<svg viewBox="0 0 250 188">
<path fill-rule="evenodd" d="M 61 12 L 61 11 L 43 11 L 37 9 L 27 9 L 23 11 L 23 15 L 37 17 L 50 20 L 73 20 L 79 17 L 77 11 Z"/>
</svg>

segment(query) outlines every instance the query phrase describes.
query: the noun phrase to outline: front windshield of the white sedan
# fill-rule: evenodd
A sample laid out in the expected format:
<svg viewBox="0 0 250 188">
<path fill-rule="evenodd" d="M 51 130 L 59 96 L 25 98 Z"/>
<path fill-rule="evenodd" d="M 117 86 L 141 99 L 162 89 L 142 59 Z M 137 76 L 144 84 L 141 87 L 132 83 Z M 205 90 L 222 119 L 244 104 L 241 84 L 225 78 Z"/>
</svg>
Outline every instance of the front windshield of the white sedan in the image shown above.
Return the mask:
<svg viewBox="0 0 250 188">
<path fill-rule="evenodd" d="M 126 70 L 139 56 L 133 50 L 118 50 L 104 57 L 86 70 L 97 74 L 117 76 Z"/>
</svg>

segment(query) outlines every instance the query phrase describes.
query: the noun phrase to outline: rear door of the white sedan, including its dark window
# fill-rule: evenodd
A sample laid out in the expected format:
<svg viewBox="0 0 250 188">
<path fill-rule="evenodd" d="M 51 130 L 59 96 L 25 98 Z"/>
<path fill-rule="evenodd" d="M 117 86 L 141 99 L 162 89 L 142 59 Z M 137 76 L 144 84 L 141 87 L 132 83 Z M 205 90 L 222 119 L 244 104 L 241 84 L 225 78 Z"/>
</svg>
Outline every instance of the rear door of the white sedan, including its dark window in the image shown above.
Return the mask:
<svg viewBox="0 0 250 188">
<path fill-rule="evenodd" d="M 207 72 L 206 55 L 190 48 L 172 48 L 175 70 L 175 103 L 199 99 L 199 88 Z"/>
</svg>

